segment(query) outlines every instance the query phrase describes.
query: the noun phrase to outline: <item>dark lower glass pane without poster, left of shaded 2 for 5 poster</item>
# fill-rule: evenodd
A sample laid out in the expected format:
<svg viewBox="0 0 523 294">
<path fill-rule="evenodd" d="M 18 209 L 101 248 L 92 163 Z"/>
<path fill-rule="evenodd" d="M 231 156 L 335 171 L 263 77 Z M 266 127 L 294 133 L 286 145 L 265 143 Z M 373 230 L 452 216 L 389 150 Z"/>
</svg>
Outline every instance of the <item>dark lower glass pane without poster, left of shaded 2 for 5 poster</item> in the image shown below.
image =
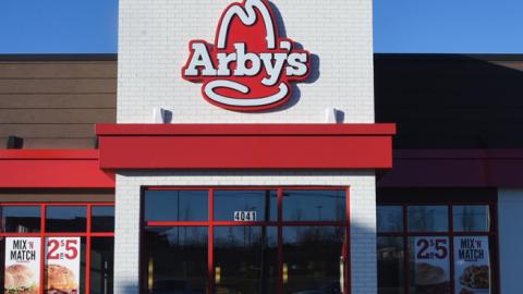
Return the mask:
<svg viewBox="0 0 523 294">
<path fill-rule="evenodd" d="M 403 237 L 378 236 L 378 293 L 403 294 L 404 250 Z"/>
</svg>

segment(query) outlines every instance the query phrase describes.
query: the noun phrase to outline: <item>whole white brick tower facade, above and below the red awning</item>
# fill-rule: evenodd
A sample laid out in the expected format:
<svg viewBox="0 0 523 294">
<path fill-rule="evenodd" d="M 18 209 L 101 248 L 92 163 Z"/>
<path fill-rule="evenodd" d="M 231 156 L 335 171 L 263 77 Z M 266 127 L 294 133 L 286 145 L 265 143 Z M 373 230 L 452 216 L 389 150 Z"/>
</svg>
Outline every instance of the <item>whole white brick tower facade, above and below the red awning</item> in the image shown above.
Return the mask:
<svg viewBox="0 0 523 294">
<path fill-rule="evenodd" d="M 323 123 L 331 107 L 344 112 L 345 123 L 374 122 L 372 0 L 273 0 L 280 29 L 315 56 L 314 82 L 296 84 L 300 95 L 277 111 L 241 113 L 206 102 L 202 85 L 182 79 L 181 69 L 188 41 L 212 42 L 232 1 L 120 0 L 119 123 L 150 123 L 158 107 L 173 112 L 173 123 Z M 373 171 L 120 172 L 117 294 L 138 292 L 142 185 L 350 185 L 352 293 L 376 293 Z"/>
</svg>

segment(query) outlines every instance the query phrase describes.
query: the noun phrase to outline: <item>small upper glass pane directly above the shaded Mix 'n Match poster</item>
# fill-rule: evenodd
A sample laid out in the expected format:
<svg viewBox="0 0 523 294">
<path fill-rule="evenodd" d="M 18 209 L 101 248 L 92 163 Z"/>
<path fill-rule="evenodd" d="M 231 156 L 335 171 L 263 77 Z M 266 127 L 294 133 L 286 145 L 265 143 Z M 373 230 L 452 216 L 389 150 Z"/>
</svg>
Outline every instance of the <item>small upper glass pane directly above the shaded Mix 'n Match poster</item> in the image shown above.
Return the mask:
<svg viewBox="0 0 523 294">
<path fill-rule="evenodd" d="M 488 232 L 490 217 L 486 205 L 453 206 L 453 225 L 455 232 Z"/>
</svg>

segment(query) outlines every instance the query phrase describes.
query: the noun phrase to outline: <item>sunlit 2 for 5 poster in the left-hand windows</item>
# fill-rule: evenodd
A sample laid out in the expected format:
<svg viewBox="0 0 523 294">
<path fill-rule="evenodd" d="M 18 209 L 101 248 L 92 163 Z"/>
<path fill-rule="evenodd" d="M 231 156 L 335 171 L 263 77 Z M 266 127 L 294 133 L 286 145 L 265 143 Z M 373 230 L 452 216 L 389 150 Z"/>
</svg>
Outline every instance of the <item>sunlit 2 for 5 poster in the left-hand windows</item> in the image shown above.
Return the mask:
<svg viewBox="0 0 523 294">
<path fill-rule="evenodd" d="M 46 253 L 46 293 L 78 294 L 80 237 L 48 237 Z"/>
</svg>

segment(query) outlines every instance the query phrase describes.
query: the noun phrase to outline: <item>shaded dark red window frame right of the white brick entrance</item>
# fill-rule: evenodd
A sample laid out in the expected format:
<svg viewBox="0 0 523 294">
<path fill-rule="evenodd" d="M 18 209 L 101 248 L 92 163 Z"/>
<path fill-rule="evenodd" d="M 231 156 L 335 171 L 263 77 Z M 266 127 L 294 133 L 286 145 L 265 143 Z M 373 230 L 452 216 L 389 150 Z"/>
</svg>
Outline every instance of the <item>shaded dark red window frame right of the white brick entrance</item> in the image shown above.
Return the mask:
<svg viewBox="0 0 523 294">
<path fill-rule="evenodd" d="M 402 222 L 403 226 L 401 232 L 377 232 L 377 237 L 401 237 L 403 242 L 403 271 L 404 271 L 404 281 L 403 289 L 404 294 L 410 294 L 410 250 L 409 250 L 409 237 L 413 236 L 445 236 L 449 240 L 449 269 L 450 269 L 450 292 L 449 294 L 459 294 L 454 293 L 454 236 L 488 236 L 489 246 L 490 246 L 490 273 L 492 283 L 494 294 L 499 293 L 500 281 L 499 281 L 499 252 L 498 252 L 498 221 L 497 221 L 497 211 L 498 206 L 496 199 L 473 199 L 469 197 L 458 198 L 458 199 L 446 199 L 440 201 L 430 201 L 430 200 L 409 200 L 402 201 L 399 199 L 393 200 L 382 200 L 377 201 L 376 207 L 386 207 L 386 206 L 396 206 L 402 207 Z M 408 207 L 412 206 L 445 206 L 448 211 L 448 230 L 442 232 L 410 232 L 409 231 L 409 216 Z M 490 220 L 489 231 L 479 231 L 479 232 L 455 232 L 454 231 L 454 219 L 453 219 L 453 207 L 454 206 L 488 206 L 488 213 Z M 376 244 L 377 245 L 377 244 Z"/>
</svg>

